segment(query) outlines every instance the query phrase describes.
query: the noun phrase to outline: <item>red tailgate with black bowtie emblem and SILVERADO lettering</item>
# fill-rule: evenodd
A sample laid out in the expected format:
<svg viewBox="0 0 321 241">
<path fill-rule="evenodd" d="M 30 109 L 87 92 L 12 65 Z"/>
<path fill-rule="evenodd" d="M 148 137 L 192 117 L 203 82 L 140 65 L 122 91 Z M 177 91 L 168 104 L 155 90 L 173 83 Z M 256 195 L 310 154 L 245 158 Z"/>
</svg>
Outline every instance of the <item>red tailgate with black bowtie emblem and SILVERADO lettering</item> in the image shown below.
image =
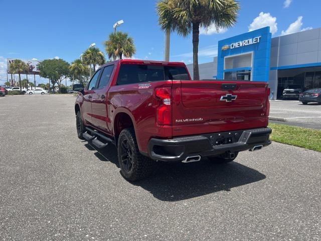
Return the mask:
<svg viewBox="0 0 321 241">
<path fill-rule="evenodd" d="M 267 83 L 173 81 L 173 137 L 266 127 Z"/>
</svg>

